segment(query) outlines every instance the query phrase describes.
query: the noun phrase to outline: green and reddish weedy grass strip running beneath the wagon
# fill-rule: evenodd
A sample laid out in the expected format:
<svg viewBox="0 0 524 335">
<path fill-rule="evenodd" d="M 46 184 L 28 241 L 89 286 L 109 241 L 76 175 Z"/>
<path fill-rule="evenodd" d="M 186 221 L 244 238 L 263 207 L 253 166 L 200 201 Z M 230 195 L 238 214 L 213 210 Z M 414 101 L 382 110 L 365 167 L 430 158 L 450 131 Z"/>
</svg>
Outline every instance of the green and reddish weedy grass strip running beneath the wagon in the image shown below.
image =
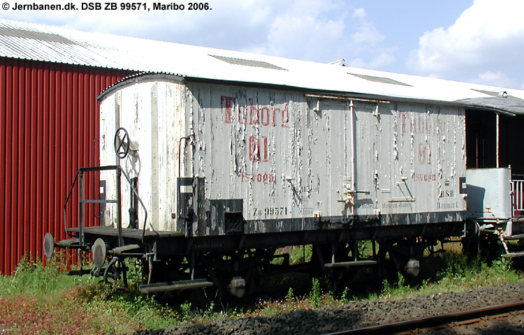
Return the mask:
<svg viewBox="0 0 524 335">
<path fill-rule="evenodd" d="M 291 250 L 292 262 L 303 261 L 306 249 Z M 309 256 L 309 255 L 307 255 Z M 307 258 L 306 256 L 306 258 Z M 455 292 L 489 285 L 520 283 L 523 274 L 511 261 L 500 259 L 489 266 L 481 260 L 467 260 L 455 251 L 433 254 L 421 262 L 416 281 L 393 276 L 375 285 L 342 285 L 336 278 L 309 281 L 310 289 L 298 290 L 282 281 L 282 299 L 260 299 L 237 307 L 212 304 L 201 310 L 190 302 L 173 306 L 131 292 L 119 290 L 121 283 L 105 285 L 92 276 L 67 276 L 65 260 L 41 262 L 23 260 L 12 276 L 0 276 L 0 332 L 6 334 L 133 334 L 138 329 L 159 329 L 180 323 L 202 323 L 222 318 L 272 316 L 326 305 L 342 305 L 356 299 L 398 299 L 435 292 Z M 435 269 L 438 269 L 435 271 Z M 132 276 L 131 276 L 132 277 Z M 300 276 L 303 281 L 304 276 Z M 285 285 L 288 285 L 287 287 Z M 287 292 L 287 293 L 285 293 Z M 297 292 L 300 292 L 297 294 Z M 285 295 L 285 296 L 284 296 Z M 3 329 L 3 330 L 2 330 Z"/>
</svg>

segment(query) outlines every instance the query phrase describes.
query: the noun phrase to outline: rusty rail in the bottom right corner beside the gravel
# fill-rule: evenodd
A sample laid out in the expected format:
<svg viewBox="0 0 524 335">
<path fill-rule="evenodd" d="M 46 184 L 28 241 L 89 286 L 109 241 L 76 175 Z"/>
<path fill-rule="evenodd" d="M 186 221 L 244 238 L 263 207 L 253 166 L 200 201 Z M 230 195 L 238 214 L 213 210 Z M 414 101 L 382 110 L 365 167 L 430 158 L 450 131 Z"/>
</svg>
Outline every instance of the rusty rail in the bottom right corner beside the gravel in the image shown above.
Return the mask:
<svg viewBox="0 0 524 335">
<path fill-rule="evenodd" d="M 351 329 L 329 335 L 524 334 L 524 301 Z"/>
</svg>

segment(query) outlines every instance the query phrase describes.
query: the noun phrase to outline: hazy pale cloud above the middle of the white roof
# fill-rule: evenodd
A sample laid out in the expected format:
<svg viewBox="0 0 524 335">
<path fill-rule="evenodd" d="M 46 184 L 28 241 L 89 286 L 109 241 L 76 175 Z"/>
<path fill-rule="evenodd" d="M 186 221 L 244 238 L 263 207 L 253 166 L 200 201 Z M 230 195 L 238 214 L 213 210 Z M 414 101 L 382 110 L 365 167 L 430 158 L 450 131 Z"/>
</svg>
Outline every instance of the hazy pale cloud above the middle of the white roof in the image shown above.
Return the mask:
<svg viewBox="0 0 524 335">
<path fill-rule="evenodd" d="M 297 0 L 288 10 L 279 8 L 273 13 L 267 38 L 245 51 L 326 63 L 344 58 L 365 68 L 395 63 L 395 48 L 381 47 L 386 38 L 367 19 L 364 8 L 347 8 L 343 1 L 323 5 Z"/>
</svg>

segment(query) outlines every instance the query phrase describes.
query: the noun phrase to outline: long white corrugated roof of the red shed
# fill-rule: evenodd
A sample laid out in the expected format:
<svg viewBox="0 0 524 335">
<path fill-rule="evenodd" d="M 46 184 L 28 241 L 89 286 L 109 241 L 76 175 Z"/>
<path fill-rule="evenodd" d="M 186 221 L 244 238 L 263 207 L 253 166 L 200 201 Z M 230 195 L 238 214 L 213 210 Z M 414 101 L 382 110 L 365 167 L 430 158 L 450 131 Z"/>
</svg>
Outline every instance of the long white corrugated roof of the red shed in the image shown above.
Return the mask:
<svg viewBox="0 0 524 335">
<path fill-rule="evenodd" d="M 524 91 L 517 89 L 10 20 L 0 20 L 0 57 L 393 98 L 452 102 L 490 97 L 486 92 L 507 91 L 509 96 L 524 99 Z"/>
</svg>

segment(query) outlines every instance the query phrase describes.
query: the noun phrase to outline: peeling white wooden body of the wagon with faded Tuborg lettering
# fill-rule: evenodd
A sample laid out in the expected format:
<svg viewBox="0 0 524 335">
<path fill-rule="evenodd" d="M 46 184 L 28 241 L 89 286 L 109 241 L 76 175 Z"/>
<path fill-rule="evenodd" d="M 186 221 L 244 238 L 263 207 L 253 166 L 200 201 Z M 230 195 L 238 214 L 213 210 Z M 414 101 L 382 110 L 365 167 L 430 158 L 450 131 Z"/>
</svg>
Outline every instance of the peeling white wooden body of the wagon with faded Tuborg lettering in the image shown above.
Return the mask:
<svg viewBox="0 0 524 335">
<path fill-rule="evenodd" d="M 165 74 L 130 77 L 100 99 L 101 165 L 138 177 L 147 229 L 191 237 L 464 218 L 458 104 Z M 122 160 L 120 127 L 131 140 Z M 114 198 L 114 178 L 101 179 Z"/>
</svg>

